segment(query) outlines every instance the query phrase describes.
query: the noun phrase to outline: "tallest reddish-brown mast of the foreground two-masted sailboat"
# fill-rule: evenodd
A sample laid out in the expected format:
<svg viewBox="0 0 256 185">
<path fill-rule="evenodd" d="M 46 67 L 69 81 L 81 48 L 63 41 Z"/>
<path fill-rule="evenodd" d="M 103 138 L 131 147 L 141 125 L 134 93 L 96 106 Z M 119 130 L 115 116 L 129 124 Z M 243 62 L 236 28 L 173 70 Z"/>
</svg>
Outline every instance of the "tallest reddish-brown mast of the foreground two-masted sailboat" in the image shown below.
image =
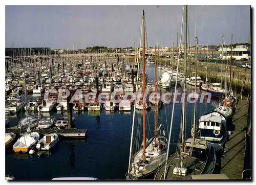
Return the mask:
<svg viewBox="0 0 256 185">
<path fill-rule="evenodd" d="M 144 10 L 142 11 L 142 28 L 143 28 L 143 99 L 144 99 L 144 93 L 145 93 L 145 85 L 146 85 L 146 79 L 145 79 L 145 15 Z M 143 163 L 146 161 L 146 103 L 145 100 L 143 100 Z"/>
</svg>

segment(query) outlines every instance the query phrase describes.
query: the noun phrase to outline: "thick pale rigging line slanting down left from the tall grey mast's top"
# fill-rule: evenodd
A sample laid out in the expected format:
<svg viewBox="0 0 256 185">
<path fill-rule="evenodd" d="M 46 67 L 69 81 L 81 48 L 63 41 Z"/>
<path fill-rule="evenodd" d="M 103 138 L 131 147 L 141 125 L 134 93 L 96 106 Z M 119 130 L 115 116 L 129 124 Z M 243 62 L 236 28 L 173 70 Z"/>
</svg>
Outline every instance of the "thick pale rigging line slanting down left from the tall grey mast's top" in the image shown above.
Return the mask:
<svg viewBox="0 0 256 185">
<path fill-rule="evenodd" d="M 182 39 L 184 9 L 185 9 L 185 6 L 183 7 L 183 16 L 182 16 L 182 25 L 181 25 L 181 34 L 180 34 L 180 44 L 181 44 L 181 39 Z M 175 82 L 175 96 L 174 97 L 176 97 L 177 81 L 178 81 L 178 75 L 179 75 L 179 63 L 180 63 L 180 52 L 181 52 L 180 48 L 181 47 L 179 47 L 178 64 L 177 64 L 177 78 L 176 78 L 176 82 Z M 186 83 L 186 82 L 184 82 L 184 83 Z M 170 121 L 170 129 L 169 129 L 170 131 L 169 131 L 168 145 L 167 145 L 168 148 L 167 148 L 166 158 L 165 158 L 164 179 L 166 178 L 167 159 L 168 159 L 168 155 L 169 155 L 169 144 L 170 144 L 170 137 L 172 136 L 172 127 L 173 127 L 173 121 L 174 121 L 174 108 L 175 108 L 175 102 L 173 103 L 172 118 L 171 118 L 171 121 Z"/>
</svg>

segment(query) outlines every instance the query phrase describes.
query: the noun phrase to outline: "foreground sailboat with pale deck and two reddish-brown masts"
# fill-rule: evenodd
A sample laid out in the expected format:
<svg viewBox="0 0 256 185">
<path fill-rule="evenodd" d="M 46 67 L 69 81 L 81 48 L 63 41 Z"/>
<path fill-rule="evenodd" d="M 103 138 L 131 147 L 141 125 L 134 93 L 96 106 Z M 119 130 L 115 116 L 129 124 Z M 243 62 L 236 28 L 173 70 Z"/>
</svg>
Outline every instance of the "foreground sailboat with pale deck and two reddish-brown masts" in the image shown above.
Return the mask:
<svg viewBox="0 0 256 185">
<path fill-rule="evenodd" d="M 143 94 L 145 92 L 145 19 L 144 19 L 144 10 L 142 12 L 142 29 L 143 29 Z M 156 63 L 156 61 L 155 61 Z M 156 65 L 155 65 L 156 67 Z M 139 67 L 138 67 L 139 68 Z M 156 70 L 155 70 L 156 71 Z M 156 74 L 155 74 L 156 75 Z M 138 84 L 138 81 L 137 81 Z M 155 79 L 156 85 L 156 79 Z M 155 86 L 155 90 L 157 90 Z M 137 90 L 136 90 L 137 91 Z M 136 100 L 135 100 L 136 101 Z M 157 104 L 155 104 L 155 107 Z M 134 109 L 135 110 L 135 109 Z M 157 117 L 155 110 L 155 134 L 154 136 L 146 141 L 145 135 L 145 118 L 146 118 L 146 106 L 145 101 L 143 101 L 143 142 L 141 149 L 132 158 L 132 140 L 133 140 L 133 128 L 134 128 L 134 119 L 133 119 L 133 128 L 132 128 L 132 137 L 131 137 L 131 147 L 130 147 L 130 158 L 129 158 L 129 169 L 126 173 L 126 179 L 140 179 L 144 178 L 147 175 L 152 174 L 155 170 L 164 163 L 166 149 L 167 149 L 167 139 L 165 133 L 163 136 L 160 136 L 161 125 L 157 128 Z M 135 112 L 134 112 L 135 114 Z"/>
</svg>

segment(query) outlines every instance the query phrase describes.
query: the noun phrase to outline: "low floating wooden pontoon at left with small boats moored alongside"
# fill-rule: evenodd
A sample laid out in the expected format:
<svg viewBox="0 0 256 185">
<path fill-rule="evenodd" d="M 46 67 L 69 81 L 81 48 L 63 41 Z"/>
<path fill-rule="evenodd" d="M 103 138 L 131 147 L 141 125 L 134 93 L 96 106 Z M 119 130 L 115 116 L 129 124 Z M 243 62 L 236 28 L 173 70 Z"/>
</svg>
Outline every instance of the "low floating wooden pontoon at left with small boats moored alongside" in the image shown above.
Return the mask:
<svg viewBox="0 0 256 185">
<path fill-rule="evenodd" d="M 20 130 L 20 129 L 17 129 L 17 126 L 14 126 L 14 127 L 5 129 L 5 132 L 6 133 L 13 132 L 16 135 L 20 135 L 20 134 L 27 132 L 27 129 L 22 128 Z M 75 128 L 75 129 L 58 130 L 55 128 L 46 128 L 46 129 L 42 129 L 42 130 L 37 130 L 37 132 L 41 135 L 56 133 L 59 135 L 59 137 L 63 137 L 63 138 L 85 139 L 87 137 L 88 129 Z"/>
</svg>

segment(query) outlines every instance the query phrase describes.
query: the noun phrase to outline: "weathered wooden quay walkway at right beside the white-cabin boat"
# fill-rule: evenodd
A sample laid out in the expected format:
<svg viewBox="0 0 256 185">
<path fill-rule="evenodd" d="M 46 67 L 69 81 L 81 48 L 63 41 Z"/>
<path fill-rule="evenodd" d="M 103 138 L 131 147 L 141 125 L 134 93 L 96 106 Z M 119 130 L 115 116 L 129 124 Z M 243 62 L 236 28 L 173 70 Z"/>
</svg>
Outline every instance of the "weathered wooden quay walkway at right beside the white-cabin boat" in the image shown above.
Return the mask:
<svg viewBox="0 0 256 185">
<path fill-rule="evenodd" d="M 221 173 L 226 174 L 230 179 L 241 179 L 242 176 L 247 114 L 248 101 L 247 99 L 240 100 L 233 117 L 234 129 L 221 159 Z"/>
</svg>

